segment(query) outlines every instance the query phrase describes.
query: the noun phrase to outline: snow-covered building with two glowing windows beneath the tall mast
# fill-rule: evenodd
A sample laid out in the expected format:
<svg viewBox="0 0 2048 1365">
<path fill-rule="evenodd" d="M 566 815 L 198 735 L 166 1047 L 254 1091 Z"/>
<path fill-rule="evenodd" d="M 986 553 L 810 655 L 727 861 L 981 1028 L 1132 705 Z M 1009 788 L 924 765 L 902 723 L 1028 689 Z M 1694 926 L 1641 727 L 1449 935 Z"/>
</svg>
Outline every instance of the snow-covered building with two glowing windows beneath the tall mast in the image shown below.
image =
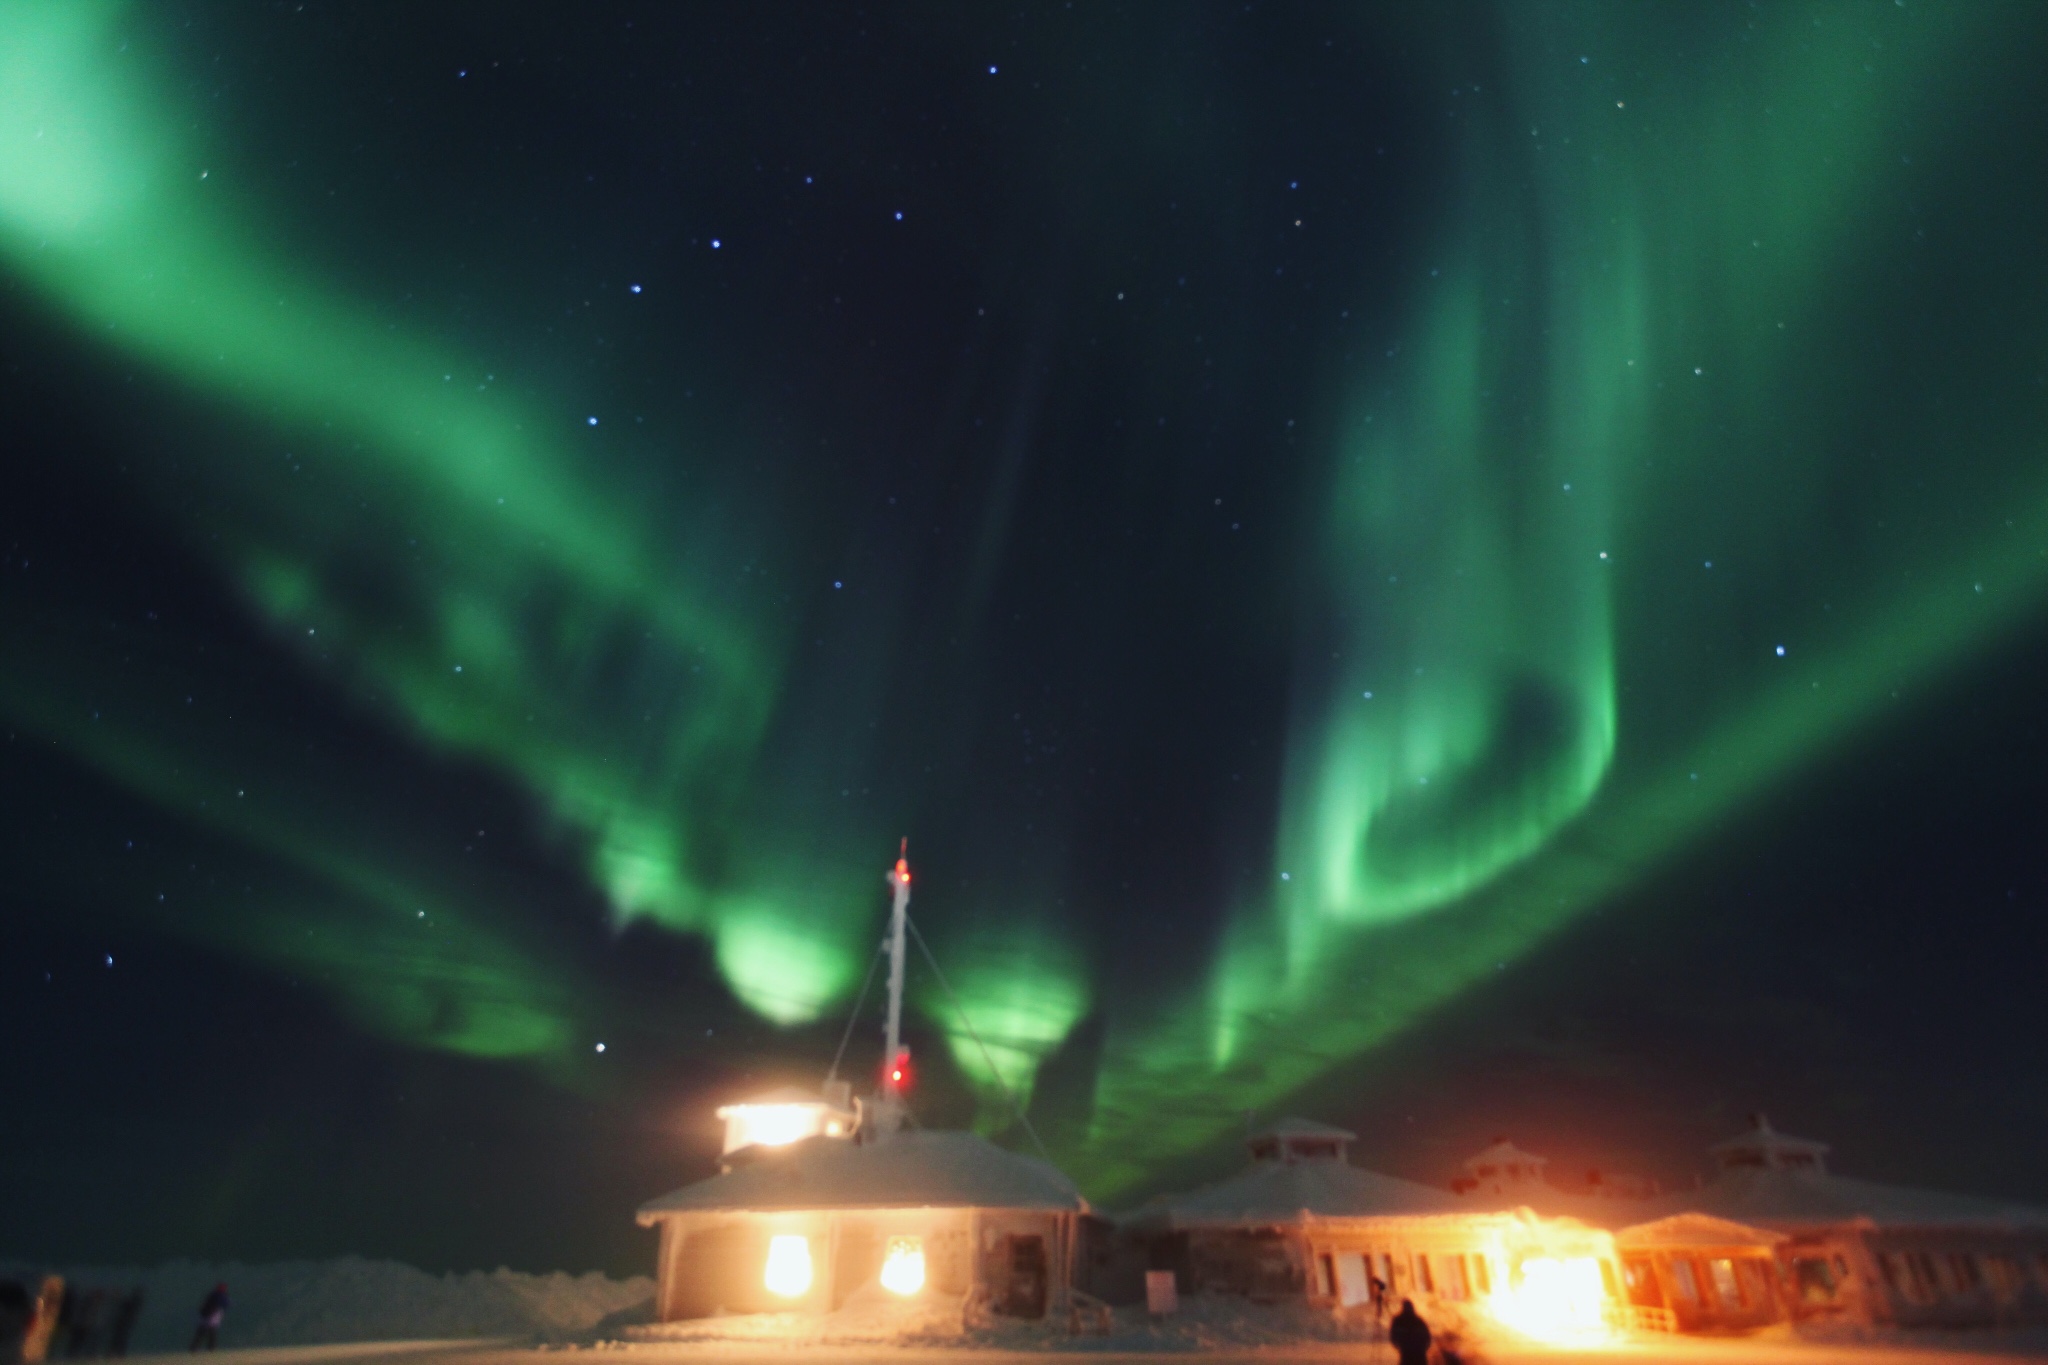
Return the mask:
<svg viewBox="0 0 2048 1365">
<path fill-rule="evenodd" d="M 850 1302 L 1042 1318 L 1085 1265 L 1085 1222 L 1087 1201 L 1042 1160 L 918 1130 L 754 1144 L 639 1209 L 662 1230 L 664 1322 Z"/>
</svg>

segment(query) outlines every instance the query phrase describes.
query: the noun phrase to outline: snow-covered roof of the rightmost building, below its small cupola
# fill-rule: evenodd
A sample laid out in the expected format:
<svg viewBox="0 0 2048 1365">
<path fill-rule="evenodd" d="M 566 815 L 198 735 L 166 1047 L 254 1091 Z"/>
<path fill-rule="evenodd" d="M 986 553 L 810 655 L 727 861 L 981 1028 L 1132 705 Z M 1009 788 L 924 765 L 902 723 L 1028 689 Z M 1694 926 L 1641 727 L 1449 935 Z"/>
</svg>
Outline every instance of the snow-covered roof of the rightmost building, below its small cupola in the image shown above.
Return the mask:
<svg viewBox="0 0 2048 1365">
<path fill-rule="evenodd" d="M 1882 1228 L 2048 1228 L 2048 1209 L 1841 1175 L 1733 1166 L 1700 1189 L 1647 1201 L 1647 1212 L 1700 1212 L 1763 1228 L 1870 1222 Z"/>
</svg>

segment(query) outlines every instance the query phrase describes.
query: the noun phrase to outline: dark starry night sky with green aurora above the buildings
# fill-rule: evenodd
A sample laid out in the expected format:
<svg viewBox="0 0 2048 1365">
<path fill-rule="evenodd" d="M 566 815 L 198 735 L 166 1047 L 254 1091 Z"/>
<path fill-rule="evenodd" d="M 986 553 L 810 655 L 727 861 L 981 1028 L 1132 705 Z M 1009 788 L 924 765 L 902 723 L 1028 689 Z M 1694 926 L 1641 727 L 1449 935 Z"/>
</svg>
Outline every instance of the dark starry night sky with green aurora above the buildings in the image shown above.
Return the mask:
<svg viewBox="0 0 2048 1365">
<path fill-rule="evenodd" d="M 2044 162 L 2034 4 L 0 4 L 0 1252 L 645 1271 L 903 835 L 1112 1207 L 2048 1203 Z"/>
</svg>

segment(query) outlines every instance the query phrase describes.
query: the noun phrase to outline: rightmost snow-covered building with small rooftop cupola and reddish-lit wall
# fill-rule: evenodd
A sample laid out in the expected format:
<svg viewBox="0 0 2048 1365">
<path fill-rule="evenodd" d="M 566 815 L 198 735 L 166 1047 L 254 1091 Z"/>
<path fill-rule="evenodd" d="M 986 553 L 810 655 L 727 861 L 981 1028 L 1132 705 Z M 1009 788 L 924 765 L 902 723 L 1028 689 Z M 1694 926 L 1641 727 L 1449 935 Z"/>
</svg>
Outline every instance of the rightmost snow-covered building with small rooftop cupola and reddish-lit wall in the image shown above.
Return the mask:
<svg viewBox="0 0 2048 1365">
<path fill-rule="evenodd" d="M 2048 1209 L 1831 1175 L 1827 1144 L 1780 1134 L 1763 1115 L 1710 1150 L 1712 1181 L 1651 1205 L 1784 1234 L 1776 1254 L 1794 1314 L 2048 1322 Z"/>
</svg>

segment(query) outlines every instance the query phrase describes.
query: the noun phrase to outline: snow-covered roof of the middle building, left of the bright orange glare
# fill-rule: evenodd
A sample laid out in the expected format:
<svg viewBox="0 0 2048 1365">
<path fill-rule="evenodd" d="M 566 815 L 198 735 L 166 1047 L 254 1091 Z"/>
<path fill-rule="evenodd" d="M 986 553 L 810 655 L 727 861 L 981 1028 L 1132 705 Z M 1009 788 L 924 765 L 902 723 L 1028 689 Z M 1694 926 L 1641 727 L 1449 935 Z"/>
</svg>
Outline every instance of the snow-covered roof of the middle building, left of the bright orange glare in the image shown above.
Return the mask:
<svg viewBox="0 0 2048 1365">
<path fill-rule="evenodd" d="M 1452 1193 L 1360 1171 L 1341 1160 L 1260 1160 L 1217 1185 L 1186 1195 L 1161 1195 L 1139 1209 L 1128 1224 L 1139 1230 L 1182 1232 L 1464 1212 L 1470 1212 L 1470 1205 Z"/>
</svg>

